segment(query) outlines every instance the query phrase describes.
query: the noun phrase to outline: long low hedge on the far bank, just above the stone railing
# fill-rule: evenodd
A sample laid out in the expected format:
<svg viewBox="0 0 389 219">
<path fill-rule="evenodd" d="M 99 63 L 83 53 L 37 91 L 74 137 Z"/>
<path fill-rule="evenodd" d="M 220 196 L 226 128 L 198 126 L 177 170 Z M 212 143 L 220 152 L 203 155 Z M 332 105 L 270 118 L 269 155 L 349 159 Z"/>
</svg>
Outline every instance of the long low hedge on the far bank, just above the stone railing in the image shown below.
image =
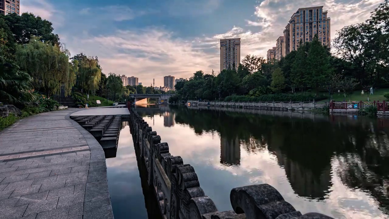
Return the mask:
<svg viewBox="0 0 389 219">
<path fill-rule="evenodd" d="M 301 94 L 265 94 L 259 97 L 249 97 L 249 96 L 238 96 L 231 95 L 224 99 L 224 101 L 233 101 L 233 102 L 311 102 L 311 101 L 321 101 L 327 99 L 326 96 L 312 96 L 312 95 L 301 95 Z"/>
</svg>

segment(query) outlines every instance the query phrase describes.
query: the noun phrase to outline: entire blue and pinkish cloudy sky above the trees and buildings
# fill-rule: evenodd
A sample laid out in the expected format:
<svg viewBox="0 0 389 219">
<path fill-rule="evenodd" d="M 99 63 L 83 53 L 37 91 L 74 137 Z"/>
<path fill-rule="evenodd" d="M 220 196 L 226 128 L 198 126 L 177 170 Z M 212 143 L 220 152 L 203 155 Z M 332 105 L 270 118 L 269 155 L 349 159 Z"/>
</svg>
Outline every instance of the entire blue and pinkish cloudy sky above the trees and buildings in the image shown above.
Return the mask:
<svg viewBox="0 0 389 219">
<path fill-rule="evenodd" d="M 219 72 L 219 39 L 240 37 L 241 58 L 266 57 L 299 7 L 324 5 L 331 37 L 365 21 L 384 0 L 21 0 L 53 23 L 72 55 L 98 56 L 108 74 L 163 86 L 163 76 Z"/>
</svg>

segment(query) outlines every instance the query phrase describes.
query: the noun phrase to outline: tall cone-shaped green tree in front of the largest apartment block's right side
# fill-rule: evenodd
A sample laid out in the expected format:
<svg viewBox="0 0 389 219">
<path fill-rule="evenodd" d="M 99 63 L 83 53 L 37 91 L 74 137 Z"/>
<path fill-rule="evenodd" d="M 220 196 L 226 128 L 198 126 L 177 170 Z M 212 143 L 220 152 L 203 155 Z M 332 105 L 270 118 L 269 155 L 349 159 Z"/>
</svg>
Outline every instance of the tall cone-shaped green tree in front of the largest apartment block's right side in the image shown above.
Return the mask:
<svg viewBox="0 0 389 219">
<path fill-rule="evenodd" d="M 333 69 L 330 63 L 330 56 L 326 53 L 326 48 L 323 47 L 317 35 L 310 43 L 307 61 L 308 85 L 314 87 L 316 95 L 319 95 L 319 87 L 325 84 Z"/>
</svg>

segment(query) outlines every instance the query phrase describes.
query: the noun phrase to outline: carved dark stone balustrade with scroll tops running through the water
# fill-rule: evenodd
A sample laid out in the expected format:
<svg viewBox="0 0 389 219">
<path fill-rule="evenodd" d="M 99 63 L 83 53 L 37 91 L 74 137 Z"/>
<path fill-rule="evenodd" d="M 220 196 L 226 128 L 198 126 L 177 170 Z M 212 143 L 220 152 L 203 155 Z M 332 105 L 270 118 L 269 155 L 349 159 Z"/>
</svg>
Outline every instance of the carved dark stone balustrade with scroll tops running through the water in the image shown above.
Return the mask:
<svg viewBox="0 0 389 219">
<path fill-rule="evenodd" d="M 319 213 L 302 215 L 268 184 L 232 189 L 233 210 L 219 212 L 200 187 L 193 166 L 170 154 L 168 143 L 162 143 L 157 132 L 133 108 L 130 129 L 165 219 L 332 219 Z"/>
</svg>

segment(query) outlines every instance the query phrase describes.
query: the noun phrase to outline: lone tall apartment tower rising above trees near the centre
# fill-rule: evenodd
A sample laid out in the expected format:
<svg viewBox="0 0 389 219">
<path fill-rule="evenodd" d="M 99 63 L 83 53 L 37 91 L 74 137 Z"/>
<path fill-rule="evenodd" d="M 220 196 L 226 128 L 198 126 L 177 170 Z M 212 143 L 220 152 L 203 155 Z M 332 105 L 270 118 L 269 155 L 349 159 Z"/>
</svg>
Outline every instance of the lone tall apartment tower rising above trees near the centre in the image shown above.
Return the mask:
<svg viewBox="0 0 389 219">
<path fill-rule="evenodd" d="M 240 38 L 220 40 L 220 71 L 223 69 L 238 69 L 240 64 Z"/>
</svg>

